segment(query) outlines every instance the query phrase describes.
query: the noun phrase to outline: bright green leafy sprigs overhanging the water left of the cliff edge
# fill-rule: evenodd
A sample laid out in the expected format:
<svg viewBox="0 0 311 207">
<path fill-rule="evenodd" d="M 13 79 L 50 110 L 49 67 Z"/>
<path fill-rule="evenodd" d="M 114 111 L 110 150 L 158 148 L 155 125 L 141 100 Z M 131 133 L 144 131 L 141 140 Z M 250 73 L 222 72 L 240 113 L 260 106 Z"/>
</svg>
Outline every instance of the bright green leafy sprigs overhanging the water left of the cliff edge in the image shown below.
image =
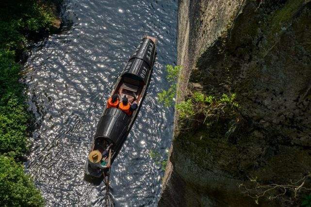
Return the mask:
<svg viewBox="0 0 311 207">
<path fill-rule="evenodd" d="M 166 65 L 166 79 L 170 86 L 167 90 L 162 90 L 161 93 L 158 93 L 159 101 L 163 103 L 165 107 L 173 106 L 174 104 L 174 99 L 176 96 L 176 82 L 180 70 L 180 65 Z"/>
</svg>

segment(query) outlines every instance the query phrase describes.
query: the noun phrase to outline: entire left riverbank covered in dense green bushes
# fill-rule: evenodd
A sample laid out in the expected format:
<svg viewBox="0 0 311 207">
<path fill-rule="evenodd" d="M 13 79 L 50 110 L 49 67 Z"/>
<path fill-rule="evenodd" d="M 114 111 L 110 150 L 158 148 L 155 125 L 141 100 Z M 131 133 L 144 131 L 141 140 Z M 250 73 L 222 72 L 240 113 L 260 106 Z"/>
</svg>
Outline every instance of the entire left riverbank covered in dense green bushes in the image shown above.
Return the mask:
<svg viewBox="0 0 311 207">
<path fill-rule="evenodd" d="M 41 192 L 24 174 L 32 114 L 20 71 L 27 44 L 60 29 L 60 0 L 5 0 L 0 8 L 0 206 L 43 206 Z"/>
</svg>

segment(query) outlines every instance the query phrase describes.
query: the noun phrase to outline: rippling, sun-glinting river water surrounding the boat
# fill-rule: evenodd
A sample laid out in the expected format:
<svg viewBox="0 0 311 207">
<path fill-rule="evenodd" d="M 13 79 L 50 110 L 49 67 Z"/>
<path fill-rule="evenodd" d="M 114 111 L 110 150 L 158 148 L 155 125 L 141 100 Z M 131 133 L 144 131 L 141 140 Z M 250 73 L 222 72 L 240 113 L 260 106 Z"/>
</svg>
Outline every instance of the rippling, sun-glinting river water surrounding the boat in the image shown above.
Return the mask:
<svg viewBox="0 0 311 207">
<path fill-rule="evenodd" d="M 26 170 L 47 206 L 102 206 L 104 185 L 83 180 L 97 121 L 115 78 L 145 34 L 158 56 L 147 95 L 112 167 L 115 206 L 156 206 L 164 172 L 150 151 L 166 157 L 173 110 L 156 96 L 166 89 L 165 64 L 176 61 L 176 0 L 68 0 L 72 26 L 32 49 L 25 70 L 37 120 Z"/>
</svg>

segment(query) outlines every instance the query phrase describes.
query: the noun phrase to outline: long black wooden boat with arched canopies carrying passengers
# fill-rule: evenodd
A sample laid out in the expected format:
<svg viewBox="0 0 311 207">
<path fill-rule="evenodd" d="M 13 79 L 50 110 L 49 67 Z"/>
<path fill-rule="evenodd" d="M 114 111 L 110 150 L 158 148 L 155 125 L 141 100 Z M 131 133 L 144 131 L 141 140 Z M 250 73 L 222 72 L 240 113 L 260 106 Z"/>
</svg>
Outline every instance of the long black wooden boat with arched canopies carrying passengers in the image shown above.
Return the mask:
<svg viewBox="0 0 311 207">
<path fill-rule="evenodd" d="M 107 146 L 113 144 L 111 163 L 114 162 L 122 148 L 145 97 L 155 60 L 156 45 L 156 38 L 150 36 L 142 38 L 122 74 L 117 78 L 114 89 L 110 94 L 110 97 L 112 97 L 114 94 L 120 94 L 121 91 L 121 95 L 126 94 L 130 99 L 134 92 L 137 97 L 137 109 L 131 115 L 128 115 L 118 108 L 107 108 L 106 104 L 99 118 L 96 134 L 89 152 L 99 150 L 102 153 Z M 104 179 L 106 183 L 105 177 L 108 176 L 108 172 L 107 169 L 93 169 L 87 159 L 84 169 L 86 180 L 96 183 L 98 180 L 101 182 Z"/>
</svg>

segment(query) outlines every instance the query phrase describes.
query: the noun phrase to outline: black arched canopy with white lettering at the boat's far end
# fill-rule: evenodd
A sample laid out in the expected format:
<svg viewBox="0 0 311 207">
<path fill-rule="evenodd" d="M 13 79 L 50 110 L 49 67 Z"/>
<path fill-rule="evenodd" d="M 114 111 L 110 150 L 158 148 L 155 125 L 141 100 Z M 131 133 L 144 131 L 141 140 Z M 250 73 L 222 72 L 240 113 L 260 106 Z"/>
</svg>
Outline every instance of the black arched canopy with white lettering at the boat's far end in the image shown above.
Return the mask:
<svg viewBox="0 0 311 207">
<path fill-rule="evenodd" d="M 122 76 L 140 80 L 147 84 L 147 74 L 155 58 L 156 39 L 145 36 L 123 70 Z"/>
</svg>

